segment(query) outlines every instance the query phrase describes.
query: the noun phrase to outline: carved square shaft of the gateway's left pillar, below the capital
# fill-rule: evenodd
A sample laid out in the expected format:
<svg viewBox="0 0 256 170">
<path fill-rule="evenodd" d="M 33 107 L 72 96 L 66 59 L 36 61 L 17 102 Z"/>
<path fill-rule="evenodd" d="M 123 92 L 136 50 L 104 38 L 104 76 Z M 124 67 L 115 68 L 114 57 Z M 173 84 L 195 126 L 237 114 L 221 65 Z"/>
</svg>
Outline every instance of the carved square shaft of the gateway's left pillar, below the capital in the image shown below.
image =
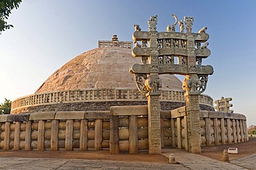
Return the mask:
<svg viewBox="0 0 256 170">
<path fill-rule="evenodd" d="M 161 153 L 161 125 L 159 93 L 149 92 L 148 103 L 148 138 L 149 154 Z"/>
</svg>

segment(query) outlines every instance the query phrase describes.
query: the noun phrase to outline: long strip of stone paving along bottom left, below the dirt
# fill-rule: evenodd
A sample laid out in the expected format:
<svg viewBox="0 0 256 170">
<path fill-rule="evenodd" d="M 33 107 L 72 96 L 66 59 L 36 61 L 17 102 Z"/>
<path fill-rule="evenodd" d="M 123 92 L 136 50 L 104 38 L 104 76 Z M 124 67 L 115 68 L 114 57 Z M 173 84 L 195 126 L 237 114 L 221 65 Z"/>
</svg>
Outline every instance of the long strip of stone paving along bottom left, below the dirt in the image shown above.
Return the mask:
<svg viewBox="0 0 256 170">
<path fill-rule="evenodd" d="M 0 158 L 0 169 L 188 169 L 181 164 L 161 164 L 149 162 L 119 162 L 106 160 L 77 160 L 49 158 Z"/>
</svg>

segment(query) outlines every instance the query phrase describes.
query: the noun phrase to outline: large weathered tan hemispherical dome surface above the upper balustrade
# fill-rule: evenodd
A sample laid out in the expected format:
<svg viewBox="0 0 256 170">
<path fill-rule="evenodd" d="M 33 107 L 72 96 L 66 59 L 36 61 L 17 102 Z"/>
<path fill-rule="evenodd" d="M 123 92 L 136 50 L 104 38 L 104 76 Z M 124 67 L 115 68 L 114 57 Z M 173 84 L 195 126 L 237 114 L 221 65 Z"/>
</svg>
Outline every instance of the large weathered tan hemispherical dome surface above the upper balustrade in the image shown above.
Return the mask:
<svg viewBox="0 0 256 170">
<path fill-rule="evenodd" d="M 141 63 L 124 47 L 98 47 L 84 52 L 54 72 L 36 93 L 84 88 L 134 87 L 134 75 L 129 67 Z M 163 89 L 179 89 L 182 83 L 176 76 L 161 75 Z"/>
</svg>

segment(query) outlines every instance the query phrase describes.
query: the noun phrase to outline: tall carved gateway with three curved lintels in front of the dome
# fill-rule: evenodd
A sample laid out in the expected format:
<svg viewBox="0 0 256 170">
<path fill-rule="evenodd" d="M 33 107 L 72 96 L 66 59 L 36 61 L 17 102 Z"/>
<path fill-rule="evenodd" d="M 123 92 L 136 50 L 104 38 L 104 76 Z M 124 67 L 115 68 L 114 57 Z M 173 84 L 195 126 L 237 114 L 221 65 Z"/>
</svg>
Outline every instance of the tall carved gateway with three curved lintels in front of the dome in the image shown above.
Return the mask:
<svg viewBox="0 0 256 170">
<path fill-rule="evenodd" d="M 135 26 L 133 56 L 141 57 L 142 64 L 134 64 L 130 72 L 134 74 L 136 85 L 148 100 L 149 153 L 161 153 L 160 103 L 161 79 L 159 74 L 181 74 L 185 76 L 186 115 L 188 124 L 188 150 L 201 152 L 201 127 L 199 96 L 206 89 L 208 75 L 213 74 L 211 65 L 202 65 L 202 59 L 210 56 L 206 42 L 209 35 L 202 28 L 192 33 L 193 17 L 179 21 L 181 32 L 175 32 L 174 25 L 167 25 L 167 32 L 157 32 L 157 15 L 148 21 L 149 31 L 141 31 Z M 185 23 L 185 27 L 183 25 Z M 184 32 L 185 29 L 185 32 Z M 139 43 L 140 42 L 140 43 Z M 204 43 L 201 45 L 201 43 Z"/>
</svg>

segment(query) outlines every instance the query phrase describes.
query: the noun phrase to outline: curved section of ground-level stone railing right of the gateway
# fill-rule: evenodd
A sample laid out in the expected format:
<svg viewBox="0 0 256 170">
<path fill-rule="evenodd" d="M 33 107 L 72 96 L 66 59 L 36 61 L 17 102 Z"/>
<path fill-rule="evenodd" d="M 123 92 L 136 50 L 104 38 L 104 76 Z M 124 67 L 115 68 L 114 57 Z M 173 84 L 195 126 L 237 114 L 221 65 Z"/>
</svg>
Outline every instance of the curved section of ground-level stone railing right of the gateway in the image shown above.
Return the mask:
<svg viewBox="0 0 256 170">
<path fill-rule="evenodd" d="M 220 111 L 201 111 L 201 145 L 248 141 L 246 116 Z"/>
</svg>

